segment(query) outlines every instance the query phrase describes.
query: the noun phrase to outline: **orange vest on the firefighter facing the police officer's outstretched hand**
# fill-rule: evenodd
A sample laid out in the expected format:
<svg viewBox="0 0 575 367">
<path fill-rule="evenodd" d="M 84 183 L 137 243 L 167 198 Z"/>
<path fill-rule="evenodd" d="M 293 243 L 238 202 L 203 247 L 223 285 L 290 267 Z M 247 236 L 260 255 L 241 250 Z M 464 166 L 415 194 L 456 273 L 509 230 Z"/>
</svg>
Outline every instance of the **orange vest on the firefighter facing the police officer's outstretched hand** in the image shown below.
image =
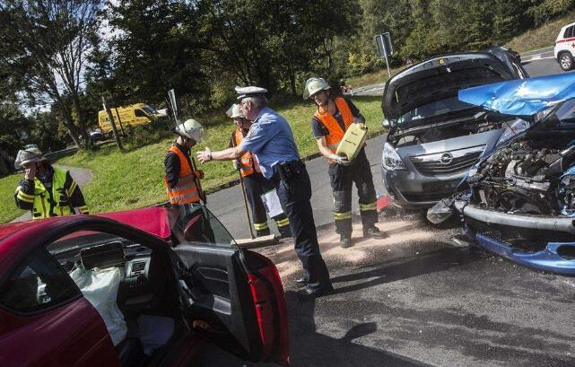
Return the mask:
<svg viewBox="0 0 575 367">
<path fill-rule="evenodd" d="M 170 204 L 198 202 L 200 197 L 196 186 L 196 176 L 190 165 L 189 154 L 184 153 L 179 144 L 174 144 L 171 146 L 164 163 L 166 164 L 164 185 Z M 176 171 L 176 169 L 178 170 Z M 170 176 L 176 176 L 177 179 Z"/>
</svg>

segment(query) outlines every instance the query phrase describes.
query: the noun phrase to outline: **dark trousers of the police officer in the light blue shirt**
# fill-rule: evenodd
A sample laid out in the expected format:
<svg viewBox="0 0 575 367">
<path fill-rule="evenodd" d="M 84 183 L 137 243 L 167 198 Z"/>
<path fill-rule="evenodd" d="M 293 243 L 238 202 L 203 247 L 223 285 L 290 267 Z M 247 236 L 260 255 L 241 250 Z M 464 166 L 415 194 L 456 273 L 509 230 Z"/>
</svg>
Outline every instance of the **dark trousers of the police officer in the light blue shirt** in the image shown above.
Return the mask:
<svg viewBox="0 0 575 367">
<path fill-rule="evenodd" d="M 274 179 L 277 196 L 280 198 L 283 212 L 290 219 L 295 252 L 301 260 L 308 279 L 308 287 L 312 289 L 331 286 L 326 263 L 321 257 L 318 245 L 316 223 L 311 209 L 311 183 L 308 170 L 301 163 L 300 174 L 288 179 Z"/>
</svg>

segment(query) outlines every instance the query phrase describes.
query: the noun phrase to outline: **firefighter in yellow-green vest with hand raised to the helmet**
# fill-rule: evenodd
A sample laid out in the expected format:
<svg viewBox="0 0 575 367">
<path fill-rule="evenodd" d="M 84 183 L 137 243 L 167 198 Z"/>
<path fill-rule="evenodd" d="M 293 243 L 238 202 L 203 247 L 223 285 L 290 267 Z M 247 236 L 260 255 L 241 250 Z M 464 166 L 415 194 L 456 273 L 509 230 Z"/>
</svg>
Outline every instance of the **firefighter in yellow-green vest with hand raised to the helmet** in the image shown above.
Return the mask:
<svg viewBox="0 0 575 367">
<path fill-rule="evenodd" d="M 14 162 L 24 169 L 16 188 L 16 206 L 30 210 L 32 219 L 70 214 L 88 214 L 80 187 L 67 170 L 52 167 L 37 147 L 22 149 Z"/>
</svg>

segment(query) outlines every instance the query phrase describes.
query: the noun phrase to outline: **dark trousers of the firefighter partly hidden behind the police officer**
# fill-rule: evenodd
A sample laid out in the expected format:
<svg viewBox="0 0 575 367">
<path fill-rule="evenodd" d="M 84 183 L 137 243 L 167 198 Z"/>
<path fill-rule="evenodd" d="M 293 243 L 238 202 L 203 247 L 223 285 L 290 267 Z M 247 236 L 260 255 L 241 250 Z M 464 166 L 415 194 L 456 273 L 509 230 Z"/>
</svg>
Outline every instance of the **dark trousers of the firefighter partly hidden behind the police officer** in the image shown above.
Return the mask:
<svg viewBox="0 0 575 367">
<path fill-rule="evenodd" d="M 262 194 L 274 189 L 274 183 L 266 179 L 259 172 L 254 172 L 243 178 L 246 197 L 252 215 L 252 223 L 256 231 L 265 231 L 267 227 L 266 205 L 262 202 Z M 284 234 L 287 228 L 283 229 L 280 224 L 284 223 L 285 214 L 274 216 L 274 221 L 278 224 L 278 230 Z M 287 231 L 289 233 L 289 231 Z"/>
</svg>

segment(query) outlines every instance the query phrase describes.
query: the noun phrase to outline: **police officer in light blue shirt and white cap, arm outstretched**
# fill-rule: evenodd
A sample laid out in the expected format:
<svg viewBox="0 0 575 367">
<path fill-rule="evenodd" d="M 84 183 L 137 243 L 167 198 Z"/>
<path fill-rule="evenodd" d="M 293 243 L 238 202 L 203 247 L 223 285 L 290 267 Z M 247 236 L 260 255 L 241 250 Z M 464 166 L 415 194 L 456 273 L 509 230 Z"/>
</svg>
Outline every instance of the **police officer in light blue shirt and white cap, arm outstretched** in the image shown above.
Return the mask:
<svg viewBox="0 0 575 367">
<path fill-rule="evenodd" d="M 318 234 L 309 199 L 311 184 L 308 170 L 301 162 L 288 122 L 273 109 L 266 107 L 267 92 L 258 87 L 236 87 L 241 111 L 253 121 L 248 135 L 235 148 L 211 152 L 206 148 L 198 152 L 200 162 L 226 161 L 240 158 L 246 152 L 257 154 L 260 169 L 266 179 L 272 179 L 283 212 L 290 219 L 295 251 L 301 260 L 305 275 L 298 284 L 306 284 L 300 291 L 304 297 L 318 297 L 332 293 L 326 263 L 321 257 Z"/>
</svg>

